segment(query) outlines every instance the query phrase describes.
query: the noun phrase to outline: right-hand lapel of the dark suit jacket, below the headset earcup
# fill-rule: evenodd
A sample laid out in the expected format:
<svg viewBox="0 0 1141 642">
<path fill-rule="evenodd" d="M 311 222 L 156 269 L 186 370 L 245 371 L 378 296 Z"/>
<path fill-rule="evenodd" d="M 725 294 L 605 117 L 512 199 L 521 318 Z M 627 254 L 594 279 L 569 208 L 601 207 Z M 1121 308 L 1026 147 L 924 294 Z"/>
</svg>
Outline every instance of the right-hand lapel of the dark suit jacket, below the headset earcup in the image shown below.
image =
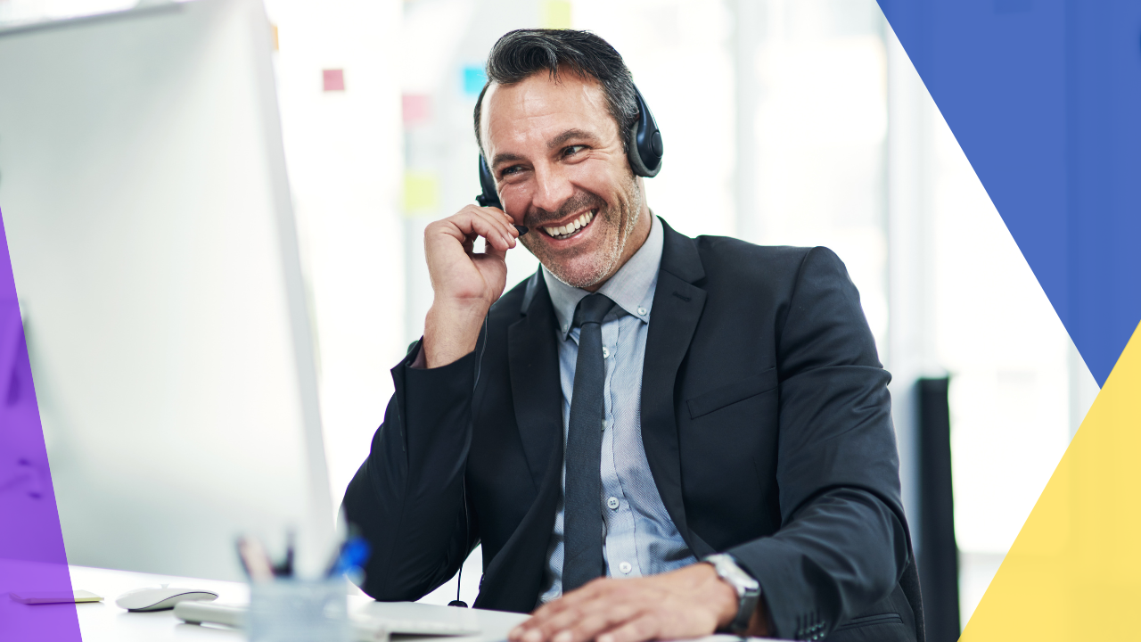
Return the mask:
<svg viewBox="0 0 1141 642">
<path fill-rule="evenodd" d="M 662 267 L 654 291 L 642 367 L 642 443 L 662 503 L 690 551 L 702 556 L 713 549 L 693 533 L 686 522 L 673 395 L 678 369 L 689 352 L 689 343 L 705 307 L 705 290 L 693 283 L 703 279 L 705 272 L 693 240 L 674 232 L 665 222 L 662 225 L 665 233 Z"/>
</svg>

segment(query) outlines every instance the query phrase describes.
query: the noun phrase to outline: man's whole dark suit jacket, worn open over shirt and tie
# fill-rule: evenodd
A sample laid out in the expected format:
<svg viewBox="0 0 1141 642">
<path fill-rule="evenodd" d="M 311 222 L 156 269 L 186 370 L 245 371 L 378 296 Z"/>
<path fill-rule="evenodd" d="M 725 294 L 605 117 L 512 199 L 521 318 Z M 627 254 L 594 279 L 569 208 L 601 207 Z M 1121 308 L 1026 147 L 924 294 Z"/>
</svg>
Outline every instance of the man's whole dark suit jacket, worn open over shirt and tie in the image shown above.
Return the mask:
<svg viewBox="0 0 1141 642">
<path fill-rule="evenodd" d="M 922 640 L 890 376 L 843 264 L 663 226 L 641 430 L 678 531 L 756 577 L 782 637 Z M 556 337 L 536 274 L 471 354 L 419 370 L 413 346 L 393 369 L 343 503 L 373 544 L 366 593 L 419 599 L 483 543 L 475 605 L 535 607 L 563 462 Z"/>
</svg>

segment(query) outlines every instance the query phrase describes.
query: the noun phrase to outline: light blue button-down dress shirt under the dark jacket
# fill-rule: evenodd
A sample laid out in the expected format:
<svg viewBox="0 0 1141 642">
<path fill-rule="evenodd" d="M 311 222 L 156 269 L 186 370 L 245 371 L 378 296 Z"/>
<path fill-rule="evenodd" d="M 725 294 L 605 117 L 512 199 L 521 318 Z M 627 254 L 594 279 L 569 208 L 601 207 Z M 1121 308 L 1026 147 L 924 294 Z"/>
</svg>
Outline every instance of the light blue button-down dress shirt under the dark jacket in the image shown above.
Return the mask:
<svg viewBox="0 0 1141 642">
<path fill-rule="evenodd" d="M 618 272 L 599 288 L 615 304 L 602 320 L 606 418 L 602 432 L 602 556 L 610 577 L 639 577 L 671 571 L 697 561 L 662 504 L 646 460 L 641 439 L 641 383 L 646 332 L 662 263 L 662 223 L 650 215 L 649 236 Z M 578 359 L 578 328 L 572 328 L 575 307 L 589 295 L 543 268 L 543 279 L 558 319 L 559 379 L 563 385 L 563 439 L 570 423 L 574 370 Z M 563 464 L 566 489 L 566 462 Z M 548 554 L 540 602 L 563 594 L 563 498 Z"/>
</svg>

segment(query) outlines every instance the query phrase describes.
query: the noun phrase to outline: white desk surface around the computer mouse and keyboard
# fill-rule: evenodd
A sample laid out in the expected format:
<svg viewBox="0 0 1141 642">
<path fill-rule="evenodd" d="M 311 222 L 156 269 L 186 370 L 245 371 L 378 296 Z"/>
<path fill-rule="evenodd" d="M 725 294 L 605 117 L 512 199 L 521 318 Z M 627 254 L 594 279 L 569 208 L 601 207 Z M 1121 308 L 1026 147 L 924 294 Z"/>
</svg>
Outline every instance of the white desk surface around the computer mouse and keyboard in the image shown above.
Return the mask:
<svg viewBox="0 0 1141 642">
<path fill-rule="evenodd" d="M 129 613 L 115 605 L 115 599 L 132 588 L 170 584 L 187 588 L 205 588 L 218 594 L 219 602 L 245 603 L 250 593 L 245 584 L 236 581 L 219 581 L 212 579 L 192 579 L 183 577 L 137 573 L 130 571 L 113 571 L 87 567 L 71 567 L 72 586 L 75 589 L 90 591 L 103 595 L 103 602 L 75 604 L 79 613 L 79 627 L 83 642 L 165 642 L 168 640 L 194 641 L 238 641 L 245 640 L 241 631 L 215 625 L 186 624 L 175 617 L 173 611 L 154 611 L 148 613 Z M 414 604 L 408 602 L 383 603 L 374 602 L 364 595 L 349 595 L 349 609 L 369 609 L 385 615 L 393 611 L 399 617 L 423 617 L 431 619 L 432 613 L 455 607 L 436 607 L 432 604 Z M 482 635 L 464 637 L 446 637 L 450 642 L 497 642 L 507 637 L 507 632 L 516 624 L 527 619 L 526 615 L 502 611 L 485 611 L 471 609 L 471 615 L 478 620 Z M 394 640 L 402 636 L 394 635 Z M 431 637 L 416 636 L 418 641 L 429 642 Z"/>
</svg>

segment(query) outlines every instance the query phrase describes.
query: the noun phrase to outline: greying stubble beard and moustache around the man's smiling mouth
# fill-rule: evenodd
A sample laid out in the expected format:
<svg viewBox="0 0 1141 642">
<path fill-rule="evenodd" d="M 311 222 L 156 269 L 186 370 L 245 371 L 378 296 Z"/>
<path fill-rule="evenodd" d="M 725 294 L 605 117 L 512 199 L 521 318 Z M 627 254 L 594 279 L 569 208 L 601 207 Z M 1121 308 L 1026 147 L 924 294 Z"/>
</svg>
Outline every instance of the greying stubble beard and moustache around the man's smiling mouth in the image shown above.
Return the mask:
<svg viewBox="0 0 1141 642">
<path fill-rule="evenodd" d="M 542 241 L 534 242 L 527 236 L 519 239 L 523 241 L 524 247 L 531 250 L 531 254 L 535 255 L 535 258 L 543 264 L 543 267 L 551 275 L 572 288 L 583 289 L 598 284 L 610 276 L 613 272 L 617 271 L 618 262 L 622 260 L 622 252 L 625 250 L 626 243 L 630 242 L 631 235 L 633 235 L 642 209 L 641 193 L 638 191 L 637 179 L 631 174 L 629 182 L 624 185 L 618 196 L 617 203 L 615 203 L 616 207 L 612 208 L 607 206 L 602 199 L 594 194 L 583 194 L 568 199 L 559 208 L 557 216 L 544 218 L 549 220 L 565 218 L 575 210 L 582 209 L 584 204 L 598 207 L 598 215 L 596 217 L 599 220 L 594 220 L 593 225 L 605 224 L 607 227 L 617 228 L 618 231 L 613 242 L 604 241 L 602 247 L 592 252 L 592 260 L 585 270 L 573 267 L 573 264 L 576 263 L 576 259 L 581 255 L 560 257 L 550 252 L 547 244 Z M 536 230 L 536 232 L 539 231 Z"/>
</svg>

